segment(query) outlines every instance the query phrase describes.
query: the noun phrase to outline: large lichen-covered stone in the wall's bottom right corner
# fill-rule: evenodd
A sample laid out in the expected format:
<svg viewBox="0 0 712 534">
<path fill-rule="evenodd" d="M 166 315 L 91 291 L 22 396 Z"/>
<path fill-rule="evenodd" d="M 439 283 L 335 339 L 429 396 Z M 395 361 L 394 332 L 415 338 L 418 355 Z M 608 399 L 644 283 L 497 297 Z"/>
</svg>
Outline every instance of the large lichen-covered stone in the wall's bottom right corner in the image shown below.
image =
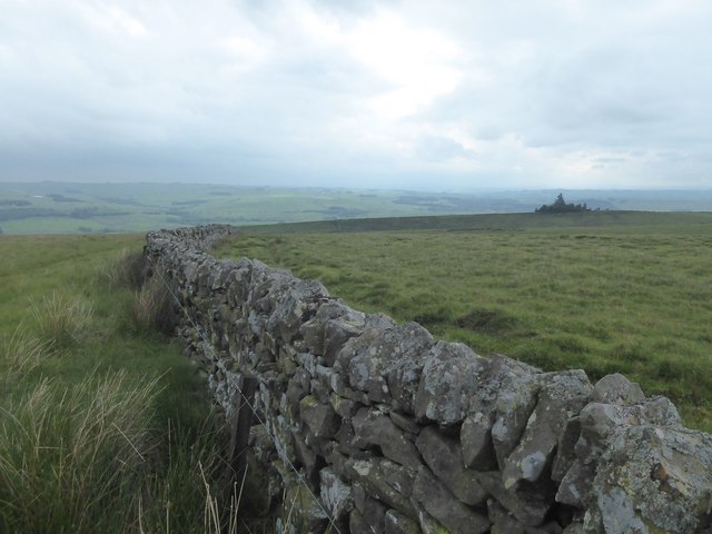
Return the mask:
<svg viewBox="0 0 712 534">
<path fill-rule="evenodd" d="M 712 436 L 623 426 L 601 457 L 584 526 L 607 534 L 682 534 L 712 526 Z"/>
</svg>

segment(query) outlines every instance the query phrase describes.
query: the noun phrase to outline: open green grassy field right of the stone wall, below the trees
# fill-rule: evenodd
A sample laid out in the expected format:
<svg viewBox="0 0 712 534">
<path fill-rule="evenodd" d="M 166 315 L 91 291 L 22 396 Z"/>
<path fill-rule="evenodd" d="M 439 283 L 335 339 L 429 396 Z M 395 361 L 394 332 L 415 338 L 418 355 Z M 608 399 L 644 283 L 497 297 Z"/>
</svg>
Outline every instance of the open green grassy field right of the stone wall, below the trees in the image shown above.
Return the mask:
<svg viewBox="0 0 712 534">
<path fill-rule="evenodd" d="M 366 231 L 368 230 L 368 231 Z M 586 212 L 245 229 L 220 257 L 546 370 L 621 372 L 712 431 L 712 214 Z"/>
</svg>

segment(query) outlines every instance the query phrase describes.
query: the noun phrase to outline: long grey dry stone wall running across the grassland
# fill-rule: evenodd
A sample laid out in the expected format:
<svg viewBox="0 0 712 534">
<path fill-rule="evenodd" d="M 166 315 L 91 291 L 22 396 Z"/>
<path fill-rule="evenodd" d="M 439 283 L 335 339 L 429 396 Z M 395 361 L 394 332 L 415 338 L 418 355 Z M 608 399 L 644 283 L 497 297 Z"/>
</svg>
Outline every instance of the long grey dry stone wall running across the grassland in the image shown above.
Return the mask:
<svg viewBox="0 0 712 534">
<path fill-rule="evenodd" d="M 265 510 L 284 497 L 315 533 L 327 514 L 354 534 L 712 532 L 712 436 L 666 398 L 617 374 L 591 384 L 483 357 L 318 281 L 204 251 L 233 231 L 151 233 L 145 256 L 228 416 L 257 382 Z"/>
</svg>

